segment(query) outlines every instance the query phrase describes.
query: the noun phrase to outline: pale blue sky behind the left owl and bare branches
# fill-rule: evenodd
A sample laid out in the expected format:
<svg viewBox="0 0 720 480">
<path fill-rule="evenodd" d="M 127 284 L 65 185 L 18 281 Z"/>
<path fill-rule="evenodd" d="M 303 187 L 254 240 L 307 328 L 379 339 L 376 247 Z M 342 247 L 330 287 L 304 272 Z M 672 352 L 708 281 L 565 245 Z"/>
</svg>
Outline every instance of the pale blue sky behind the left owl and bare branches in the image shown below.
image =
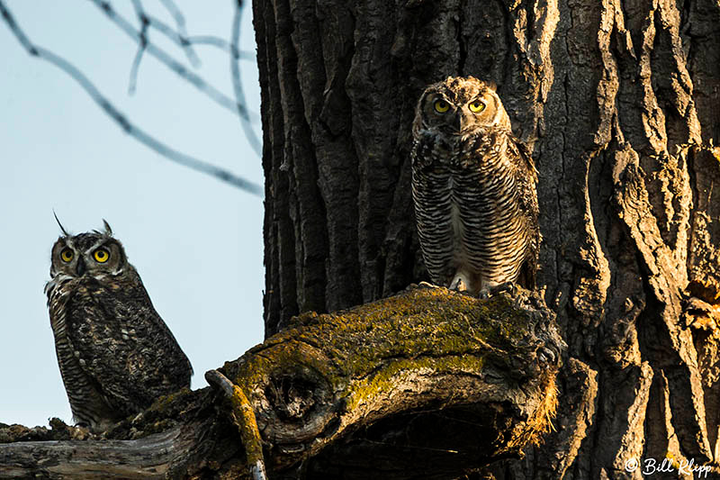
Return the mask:
<svg viewBox="0 0 720 480">
<path fill-rule="evenodd" d="M 132 122 L 186 154 L 261 184 L 260 158 L 238 118 L 146 55 L 128 95 L 136 45 L 90 2 L 6 0 L 37 45 L 80 68 Z M 159 0 L 148 11 L 175 25 Z M 176 0 L 191 35 L 229 39 L 232 0 Z M 133 25 L 130 0 L 115 8 Z M 211 6 L 209 6 L 211 5 Z M 189 65 L 157 32 L 150 39 Z M 246 6 L 241 49 L 255 52 Z M 196 71 L 232 96 L 227 54 L 195 48 Z M 157 312 L 193 363 L 193 388 L 206 370 L 262 340 L 263 203 L 235 187 L 180 167 L 126 135 L 64 72 L 31 58 L 0 22 L 0 422 L 71 421 L 55 358 L 46 298 L 58 213 L 72 232 L 110 222 Z M 257 121 L 257 67 L 242 61 Z"/>
</svg>

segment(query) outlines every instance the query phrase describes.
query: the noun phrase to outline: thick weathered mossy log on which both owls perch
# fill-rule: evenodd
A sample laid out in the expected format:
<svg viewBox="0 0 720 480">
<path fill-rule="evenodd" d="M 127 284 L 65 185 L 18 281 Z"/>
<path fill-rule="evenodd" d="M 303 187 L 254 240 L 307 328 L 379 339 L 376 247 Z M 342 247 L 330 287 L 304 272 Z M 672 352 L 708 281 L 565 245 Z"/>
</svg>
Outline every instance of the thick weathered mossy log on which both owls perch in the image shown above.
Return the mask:
<svg viewBox="0 0 720 480">
<path fill-rule="evenodd" d="M 269 478 L 462 475 L 550 428 L 563 349 L 536 294 L 419 287 L 305 313 L 220 368 L 229 390 L 161 399 L 103 439 L 0 445 L 0 478 L 247 476 L 252 435 L 232 392 L 251 406 Z"/>
</svg>

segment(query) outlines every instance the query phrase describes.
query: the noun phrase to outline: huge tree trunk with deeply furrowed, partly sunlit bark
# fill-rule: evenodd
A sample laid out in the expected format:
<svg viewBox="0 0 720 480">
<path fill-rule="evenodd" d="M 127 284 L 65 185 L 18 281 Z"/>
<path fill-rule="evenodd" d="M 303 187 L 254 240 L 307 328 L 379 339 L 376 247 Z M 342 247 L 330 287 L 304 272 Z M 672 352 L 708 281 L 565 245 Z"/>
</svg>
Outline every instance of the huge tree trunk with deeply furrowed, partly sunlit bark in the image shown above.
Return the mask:
<svg viewBox="0 0 720 480">
<path fill-rule="evenodd" d="M 557 430 L 494 475 L 641 478 L 633 459 L 720 461 L 717 2 L 253 10 L 267 336 L 298 312 L 427 279 L 410 195 L 415 105 L 449 75 L 491 80 L 534 149 L 539 281 L 569 345 Z"/>
</svg>

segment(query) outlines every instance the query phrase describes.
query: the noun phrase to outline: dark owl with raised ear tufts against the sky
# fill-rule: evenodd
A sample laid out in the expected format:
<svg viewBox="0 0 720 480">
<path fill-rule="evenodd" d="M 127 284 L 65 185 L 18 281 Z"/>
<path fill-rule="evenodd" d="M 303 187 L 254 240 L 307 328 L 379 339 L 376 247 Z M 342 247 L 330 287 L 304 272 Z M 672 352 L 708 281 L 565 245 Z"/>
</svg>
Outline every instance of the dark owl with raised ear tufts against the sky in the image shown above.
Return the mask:
<svg viewBox="0 0 720 480">
<path fill-rule="evenodd" d="M 75 421 L 107 430 L 189 387 L 193 368 L 107 222 L 62 232 L 45 285 L 60 374 Z"/>
</svg>

